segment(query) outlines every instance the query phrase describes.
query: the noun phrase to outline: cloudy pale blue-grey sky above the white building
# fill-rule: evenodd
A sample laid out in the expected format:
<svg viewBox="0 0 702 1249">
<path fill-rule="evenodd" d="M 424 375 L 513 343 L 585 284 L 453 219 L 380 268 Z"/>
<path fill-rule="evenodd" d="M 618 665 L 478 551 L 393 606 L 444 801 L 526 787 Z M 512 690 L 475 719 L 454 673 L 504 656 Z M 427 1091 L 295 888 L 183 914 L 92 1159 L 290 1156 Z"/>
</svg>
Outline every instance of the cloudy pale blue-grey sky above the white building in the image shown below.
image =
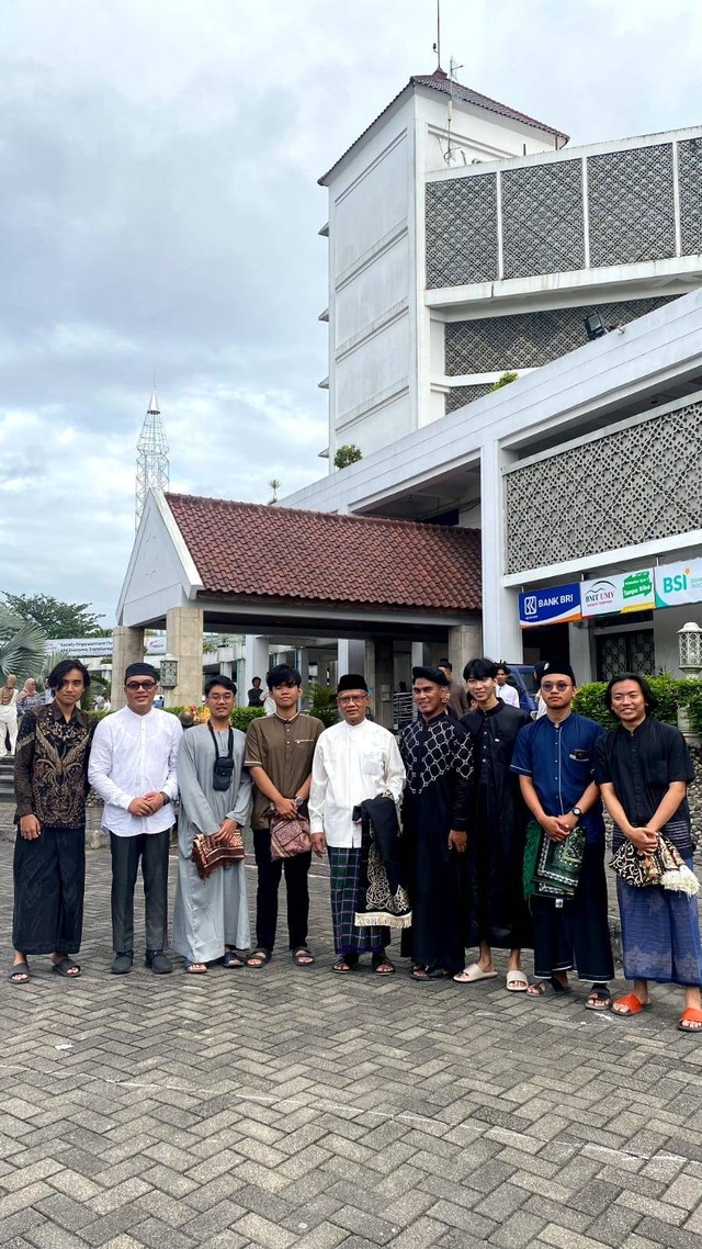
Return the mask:
<svg viewBox="0 0 702 1249">
<path fill-rule="evenodd" d="M 435 0 L 0 6 L 0 591 L 114 622 L 156 388 L 171 488 L 326 471 L 316 184 L 411 74 Z M 700 0 L 442 0 L 442 61 L 572 144 L 690 126 Z"/>
</svg>

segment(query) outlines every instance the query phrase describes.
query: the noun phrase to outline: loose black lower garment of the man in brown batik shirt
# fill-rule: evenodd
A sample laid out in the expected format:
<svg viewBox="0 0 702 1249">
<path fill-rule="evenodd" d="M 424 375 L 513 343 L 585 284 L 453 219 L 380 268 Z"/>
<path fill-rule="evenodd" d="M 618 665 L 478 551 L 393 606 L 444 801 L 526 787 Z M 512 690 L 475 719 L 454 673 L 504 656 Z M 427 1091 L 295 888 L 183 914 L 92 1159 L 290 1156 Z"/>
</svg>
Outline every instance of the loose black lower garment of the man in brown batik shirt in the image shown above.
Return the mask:
<svg viewBox="0 0 702 1249">
<path fill-rule="evenodd" d="M 41 826 L 27 842 L 17 828 L 12 945 L 22 954 L 75 954 L 82 937 L 85 828 Z"/>
</svg>

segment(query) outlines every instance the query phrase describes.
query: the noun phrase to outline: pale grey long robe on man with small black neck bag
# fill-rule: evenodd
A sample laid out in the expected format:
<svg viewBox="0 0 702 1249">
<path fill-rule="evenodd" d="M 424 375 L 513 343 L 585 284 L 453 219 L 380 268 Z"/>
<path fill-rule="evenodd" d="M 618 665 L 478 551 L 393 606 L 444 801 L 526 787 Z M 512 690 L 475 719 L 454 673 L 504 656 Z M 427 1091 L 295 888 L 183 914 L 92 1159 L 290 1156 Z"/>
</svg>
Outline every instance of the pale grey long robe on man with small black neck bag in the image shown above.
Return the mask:
<svg viewBox="0 0 702 1249">
<path fill-rule="evenodd" d="M 215 733 L 220 754 L 226 754 L 227 733 Z M 217 868 L 201 881 L 192 862 L 192 839 L 216 833 L 222 819 L 242 828 L 251 813 L 251 778 L 244 771 L 246 738 L 234 729 L 234 772 L 229 789 L 212 788 L 215 748 L 206 724 L 189 728 L 177 756 L 180 816 L 177 822 L 177 887 L 174 908 L 172 948 L 191 963 L 221 958 L 226 945 L 249 949 L 249 904 L 244 862 Z"/>
</svg>

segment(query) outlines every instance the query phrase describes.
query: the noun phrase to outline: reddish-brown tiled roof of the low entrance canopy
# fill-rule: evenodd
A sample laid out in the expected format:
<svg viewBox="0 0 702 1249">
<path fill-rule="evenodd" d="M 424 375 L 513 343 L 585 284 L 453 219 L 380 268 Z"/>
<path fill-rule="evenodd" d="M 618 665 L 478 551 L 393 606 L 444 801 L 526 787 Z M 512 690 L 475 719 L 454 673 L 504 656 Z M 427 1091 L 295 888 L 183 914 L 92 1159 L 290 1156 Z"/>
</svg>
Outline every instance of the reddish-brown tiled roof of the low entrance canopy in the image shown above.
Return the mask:
<svg viewBox="0 0 702 1249">
<path fill-rule="evenodd" d="M 167 493 L 204 593 L 480 611 L 480 532 Z"/>
</svg>

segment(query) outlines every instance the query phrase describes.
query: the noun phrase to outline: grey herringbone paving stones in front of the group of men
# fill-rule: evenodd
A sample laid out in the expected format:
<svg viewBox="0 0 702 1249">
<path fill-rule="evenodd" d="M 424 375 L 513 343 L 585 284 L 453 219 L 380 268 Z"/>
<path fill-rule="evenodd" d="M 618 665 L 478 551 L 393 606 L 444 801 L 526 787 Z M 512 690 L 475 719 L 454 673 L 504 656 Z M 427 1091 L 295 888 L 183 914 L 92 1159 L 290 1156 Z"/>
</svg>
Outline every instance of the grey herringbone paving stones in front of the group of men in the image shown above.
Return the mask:
<svg viewBox="0 0 702 1249">
<path fill-rule="evenodd" d="M 80 980 L 0 983 L 0 1249 L 702 1247 L 702 1038 L 672 989 L 625 1022 L 502 975 L 332 975 L 320 867 L 314 968 L 112 977 L 87 863 Z"/>
</svg>

